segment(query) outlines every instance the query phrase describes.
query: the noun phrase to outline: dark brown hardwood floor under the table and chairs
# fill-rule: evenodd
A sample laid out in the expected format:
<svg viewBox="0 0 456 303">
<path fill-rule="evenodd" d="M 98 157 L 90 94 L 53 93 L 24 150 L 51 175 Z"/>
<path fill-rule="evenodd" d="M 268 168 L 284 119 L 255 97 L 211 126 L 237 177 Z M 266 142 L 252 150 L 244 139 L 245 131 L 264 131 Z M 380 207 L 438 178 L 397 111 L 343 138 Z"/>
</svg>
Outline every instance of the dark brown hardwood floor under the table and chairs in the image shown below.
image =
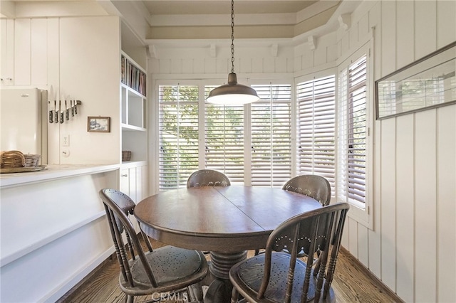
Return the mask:
<svg viewBox="0 0 456 303">
<path fill-rule="evenodd" d="M 162 244 L 152 241 L 157 248 Z M 254 252 L 249 252 L 248 257 Z M 83 282 L 73 287 L 70 292 L 58 300 L 58 303 L 78 302 L 125 302 L 125 295 L 118 286 L 119 267 L 115 255 L 95 269 Z M 333 280 L 336 302 L 370 303 L 370 302 L 403 302 L 393 292 L 384 287 L 375 277 L 351 256 L 341 249 Z M 145 302 L 147 297 L 135 297 L 135 302 Z M 176 301 L 165 301 L 167 303 Z M 182 303 L 182 301 L 177 301 Z"/>
</svg>

